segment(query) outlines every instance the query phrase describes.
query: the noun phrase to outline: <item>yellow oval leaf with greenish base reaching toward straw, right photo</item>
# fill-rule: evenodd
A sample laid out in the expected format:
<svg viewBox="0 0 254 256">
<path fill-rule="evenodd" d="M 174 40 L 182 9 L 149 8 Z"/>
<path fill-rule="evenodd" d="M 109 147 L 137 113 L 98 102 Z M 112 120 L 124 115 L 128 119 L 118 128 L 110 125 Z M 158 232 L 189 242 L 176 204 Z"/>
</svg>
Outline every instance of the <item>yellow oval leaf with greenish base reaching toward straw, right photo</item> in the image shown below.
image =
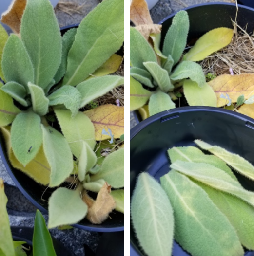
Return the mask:
<svg viewBox="0 0 254 256">
<path fill-rule="evenodd" d="M 212 53 L 230 44 L 234 30 L 230 28 L 215 28 L 200 37 L 191 50 L 184 55 L 184 60 L 200 61 Z"/>
</svg>

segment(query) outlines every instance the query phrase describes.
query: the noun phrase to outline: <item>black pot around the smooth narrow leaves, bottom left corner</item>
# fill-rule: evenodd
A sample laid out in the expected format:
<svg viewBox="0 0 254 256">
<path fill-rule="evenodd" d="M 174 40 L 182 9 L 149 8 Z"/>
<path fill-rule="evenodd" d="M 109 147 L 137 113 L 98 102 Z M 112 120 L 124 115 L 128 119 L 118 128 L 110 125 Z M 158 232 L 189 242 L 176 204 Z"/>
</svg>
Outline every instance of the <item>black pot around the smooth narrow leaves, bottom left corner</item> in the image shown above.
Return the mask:
<svg viewBox="0 0 254 256">
<path fill-rule="evenodd" d="M 28 227 L 11 227 L 12 238 L 14 241 L 23 241 L 33 246 L 34 230 Z M 55 238 L 52 238 L 57 256 L 71 256 L 71 253 Z"/>
</svg>

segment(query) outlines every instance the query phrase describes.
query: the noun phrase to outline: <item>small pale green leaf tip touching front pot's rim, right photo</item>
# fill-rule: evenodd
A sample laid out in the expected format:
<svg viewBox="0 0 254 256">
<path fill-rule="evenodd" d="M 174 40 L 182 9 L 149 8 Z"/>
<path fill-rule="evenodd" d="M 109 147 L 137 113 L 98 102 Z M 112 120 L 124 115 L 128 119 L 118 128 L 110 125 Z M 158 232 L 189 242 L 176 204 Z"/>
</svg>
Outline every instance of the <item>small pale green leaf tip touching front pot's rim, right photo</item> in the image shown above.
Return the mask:
<svg viewBox="0 0 254 256">
<path fill-rule="evenodd" d="M 165 110 L 175 109 L 176 104 L 167 93 L 158 90 L 150 97 L 148 108 L 149 114 L 152 116 Z"/>
</svg>

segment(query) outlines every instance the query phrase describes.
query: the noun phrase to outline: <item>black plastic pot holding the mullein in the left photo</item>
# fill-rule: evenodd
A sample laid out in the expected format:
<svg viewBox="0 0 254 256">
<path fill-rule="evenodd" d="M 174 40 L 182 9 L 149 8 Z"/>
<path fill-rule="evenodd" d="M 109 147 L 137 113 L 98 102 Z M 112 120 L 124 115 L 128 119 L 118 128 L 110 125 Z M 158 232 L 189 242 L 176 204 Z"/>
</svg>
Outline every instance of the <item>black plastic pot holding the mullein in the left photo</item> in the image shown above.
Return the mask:
<svg viewBox="0 0 254 256">
<path fill-rule="evenodd" d="M 62 35 L 69 29 L 78 27 L 79 24 L 70 25 L 61 29 Z M 123 55 L 123 48 L 121 48 L 117 54 Z M 20 189 L 22 194 L 31 201 L 41 212 L 48 214 L 48 199 L 56 188 L 46 188 L 43 185 L 35 182 L 29 176 L 12 167 L 9 162 L 5 142 L 2 134 L 0 133 L 0 155 L 9 175 L 14 183 Z M 44 193 L 45 192 L 45 193 Z M 42 198 L 43 195 L 43 198 Z M 43 199 L 43 200 L 42 200 Z M 123 214 L 117 211 L 113 211 L 111 219 L 108 218 L 102 224 L 92 224 L 87 219 L 81 220 L 78 224 L 72 225 L 74 227 L 97 232 L 117 232 L 124 230 L 124 218 Z"/>
</svg>

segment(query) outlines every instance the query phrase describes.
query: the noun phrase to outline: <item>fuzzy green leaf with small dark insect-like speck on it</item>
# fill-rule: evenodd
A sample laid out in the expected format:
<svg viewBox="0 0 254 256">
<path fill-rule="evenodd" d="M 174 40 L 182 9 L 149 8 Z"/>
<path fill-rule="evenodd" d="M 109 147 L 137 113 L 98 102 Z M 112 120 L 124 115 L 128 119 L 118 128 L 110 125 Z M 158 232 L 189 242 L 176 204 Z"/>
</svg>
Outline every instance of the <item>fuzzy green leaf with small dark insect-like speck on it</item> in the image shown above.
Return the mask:
<svg viewBox="0 0 254 256">
<path fill-rule="evenodd" d="M 11 145 L 19 162 L 26 166 L 42 144 L 40 117 L 32 111 L 16 116 L 11 127 Z"/>
</svg>

